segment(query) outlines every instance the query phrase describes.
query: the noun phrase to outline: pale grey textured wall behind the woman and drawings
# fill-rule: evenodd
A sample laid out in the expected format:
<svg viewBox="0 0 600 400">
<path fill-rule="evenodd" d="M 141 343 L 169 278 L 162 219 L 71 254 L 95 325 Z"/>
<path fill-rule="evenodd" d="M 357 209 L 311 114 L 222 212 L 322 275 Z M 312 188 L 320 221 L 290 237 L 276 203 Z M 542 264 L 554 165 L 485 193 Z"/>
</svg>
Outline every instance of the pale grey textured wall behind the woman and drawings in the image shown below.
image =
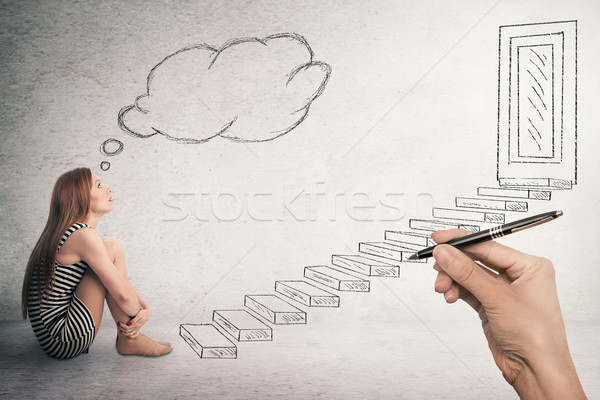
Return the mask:
<svg viewBox="0 0 600 400">
<path fill-rule="evenodd" d="M 579 182 L 532 208 L 565 217 L 503 242 L 554 261 L 566 319 L 599 318 L 597 2 L 0 4 L 0 319 L 19 318 L 25 263 L 52 186 L 76 166 L 113 187 L 114 211 L 98 231 L 123 243 L 131 280 L 153 318 L 169 324 L 208 321 L 215 308 L 240 307 L 244 294 L 270 292 L 275 280 L 300 279 L 306 265 L 406 228 L 431 204 L 494 185 L 498 27 L 566 19 L 578 20 Z M 303 35 L 333 68 L 288 135 L 182 145 L 117 126 L 119 109 L 144 92 L 166 55 L 279 32 Z M 124 151 L 103 172 L 98 148 L 108 138 Z M 386 281 L 390 290 L 374 290 L 368 307 L 338 312 L 473 318 L 433 292 L 431 264 L 401 275 Z"/>
</svg>

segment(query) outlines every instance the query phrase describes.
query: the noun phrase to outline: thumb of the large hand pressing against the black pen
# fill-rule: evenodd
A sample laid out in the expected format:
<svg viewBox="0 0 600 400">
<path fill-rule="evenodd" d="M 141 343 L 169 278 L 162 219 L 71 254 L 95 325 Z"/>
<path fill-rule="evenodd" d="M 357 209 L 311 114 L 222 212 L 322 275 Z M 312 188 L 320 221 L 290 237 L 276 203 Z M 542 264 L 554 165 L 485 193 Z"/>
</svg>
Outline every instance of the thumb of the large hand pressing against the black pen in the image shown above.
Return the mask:
<svg viewBox="0 0 600 400">
<path fill-rule="evenodd" d="M 440 244 L 433 250 L 433 257 L 450 278 L 473 293 L 482 304 L 495 297 L 497 282 L 494 277 L 460 250 Z"/>
</svg>

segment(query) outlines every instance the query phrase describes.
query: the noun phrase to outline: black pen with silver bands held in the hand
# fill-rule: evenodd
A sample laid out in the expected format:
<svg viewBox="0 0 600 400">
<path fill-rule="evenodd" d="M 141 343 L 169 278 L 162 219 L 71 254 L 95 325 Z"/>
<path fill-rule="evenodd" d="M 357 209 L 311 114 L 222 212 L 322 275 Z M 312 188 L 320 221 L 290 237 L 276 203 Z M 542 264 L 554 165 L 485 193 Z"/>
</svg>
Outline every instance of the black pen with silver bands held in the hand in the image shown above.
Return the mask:
<svg viewBox="0 0 600 400">
<path fill-rule="evenodd" d="M 467 236 L 452 239 L 444 244 L 449 244 L 458 249 L 472 246 L 477 243 L 487 242 L 488 240 L 510 235 L 511 233 L 522 231 L 523 229 L 538 226 L 544 222 L 552 221 L 553 219 L 560 217 L 562 214 L 562 211 L 550 211 L 547 213 L 534 215 L 533 217 L 523 218 L 506 225 L 495 226 L 482 232 L 475 232 Z M 412 256 L 408 257 L 408 260 L 420 260 L 421 258 L 431 257 L 433 255 L 433 249 L 435 249 L 435 246 L 419 250 Z"/>
</svg>

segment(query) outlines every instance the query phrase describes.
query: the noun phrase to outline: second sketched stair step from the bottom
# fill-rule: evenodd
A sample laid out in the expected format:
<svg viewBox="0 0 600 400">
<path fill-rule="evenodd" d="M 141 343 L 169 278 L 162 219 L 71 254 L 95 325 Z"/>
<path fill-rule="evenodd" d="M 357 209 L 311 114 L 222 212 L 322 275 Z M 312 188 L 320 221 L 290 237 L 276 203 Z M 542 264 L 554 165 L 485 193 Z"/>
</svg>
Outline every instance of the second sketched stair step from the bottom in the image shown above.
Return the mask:
<svg viewBox="0 0 600 400">
<path fill-rule="evenodd" d="M 238 342 L 273 340 L 271 327 L 246 310 L 215 310 L 213 321 Z"/>
</svg>

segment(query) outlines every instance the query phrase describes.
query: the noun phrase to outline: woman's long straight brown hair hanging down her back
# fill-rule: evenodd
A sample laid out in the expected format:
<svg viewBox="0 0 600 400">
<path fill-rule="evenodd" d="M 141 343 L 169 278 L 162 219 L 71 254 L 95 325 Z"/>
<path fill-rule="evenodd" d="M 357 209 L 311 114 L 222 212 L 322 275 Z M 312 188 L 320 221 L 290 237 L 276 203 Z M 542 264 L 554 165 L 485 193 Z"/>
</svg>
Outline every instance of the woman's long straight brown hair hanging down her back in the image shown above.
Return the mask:
<svg viewBox="0 0 600 400">
<path fill-rule="evenodd" d="M 89 168 L 76 168 L 62 174 L 52 190 L 48 221 L 27 261 L 21 311 L 27 318 L 29 290 L 33 277 L 37 278 L 38 299 L 42 301 L 54 283 L 54 262 L 60 238 L 75 222 L 84 222 L 90 210 L 92 172 Z"/>
</svg>

